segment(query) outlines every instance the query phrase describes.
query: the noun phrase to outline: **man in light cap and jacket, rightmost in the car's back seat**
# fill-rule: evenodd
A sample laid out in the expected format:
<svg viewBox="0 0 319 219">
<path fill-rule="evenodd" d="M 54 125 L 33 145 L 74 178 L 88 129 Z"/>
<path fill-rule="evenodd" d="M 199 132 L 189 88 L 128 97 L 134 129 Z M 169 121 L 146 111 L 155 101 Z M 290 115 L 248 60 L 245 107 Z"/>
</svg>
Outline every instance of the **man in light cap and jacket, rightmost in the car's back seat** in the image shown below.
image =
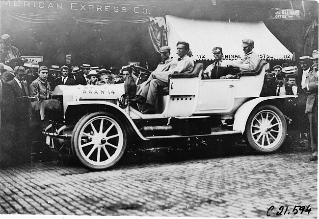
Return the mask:
<svg viewBox="0 0 319 219">
<path fill-rule="evenodd" d="M 241 42 L 245 57 L 240 61 L 234 61 L 230 66 L 239 67 L 240 71 L 254 71 L 260 62 L 258 54 L 252 51 L 255 43 L 251 39 L 243 39 Z M 226 75 L 226 79 L 229 78 L 236 78 L 236 75 Z"/>
</svg>

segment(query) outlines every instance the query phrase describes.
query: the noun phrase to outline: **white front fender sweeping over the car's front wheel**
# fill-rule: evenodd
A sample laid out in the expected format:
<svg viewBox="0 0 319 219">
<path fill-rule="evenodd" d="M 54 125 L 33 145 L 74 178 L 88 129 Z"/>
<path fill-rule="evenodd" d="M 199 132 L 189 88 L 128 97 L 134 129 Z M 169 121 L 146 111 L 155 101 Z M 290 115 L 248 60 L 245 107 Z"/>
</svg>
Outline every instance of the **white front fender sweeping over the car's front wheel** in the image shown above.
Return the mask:
<svg viewBox="0 0 319 219">
<path fill-rule="evenodd" d="M 133 128 L 133 131 L 135 131 L 135 133 L 142 139 L 142 140 L 149 140 L 147 138 L 145 138 L 141 132 L 138 130 L 138 128 L 136 127 L 136 125 L 134 124 L 132 118 L 129 116 L 129 114 L 124 111 L 122 108 L 120 108 L 119 106 L 112 104 L 112 103 L 108 103 L 105 101 L 73 101 L 73 102 L 68 102 L 68 108 L 65 111 L 65 115 L 67 115 L 68 113 L 70 113 L 70 110 L 72 111 L 73 107 L 79 107 L 79 106 L 84 106 L 84 105 L 101 105 L 101 106 L 108 106 L 113 108 L 114 110 L 116 110 L 117 113 L 120 113 L 120 115 L 124 116 L 127 121 L 131 124 L 131 127 Z M 71 112 L 72 113 L 72 112 Z"/>
</svg>

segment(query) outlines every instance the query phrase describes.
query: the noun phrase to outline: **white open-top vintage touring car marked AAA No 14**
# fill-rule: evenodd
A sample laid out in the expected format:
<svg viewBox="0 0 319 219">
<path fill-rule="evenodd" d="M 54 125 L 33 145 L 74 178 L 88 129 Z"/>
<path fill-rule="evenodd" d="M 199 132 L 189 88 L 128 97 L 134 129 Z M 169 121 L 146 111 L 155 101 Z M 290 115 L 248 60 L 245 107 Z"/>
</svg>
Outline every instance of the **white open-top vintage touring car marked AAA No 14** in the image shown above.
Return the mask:
<svg viewBox="0 0 319 219">
<path fill-rule="evenodd" d="M 237 73 L 236 79 L 204 80 L 203 64 L 191 73 L 171 74 L 169 87 L 159 92 L 155 114 L 130 106 L 124 84 L 57 86 L 53 99 L 61 113 L 45 112 L 51 124 L 43 133 L 50 147 L 94 170 L 115 165 L 132 140 L 243 134 L 253 149 L 274 152 L 287 135 L 286 103 L 297 95 L 260 97 L 265 64 Z"/>
</svg>

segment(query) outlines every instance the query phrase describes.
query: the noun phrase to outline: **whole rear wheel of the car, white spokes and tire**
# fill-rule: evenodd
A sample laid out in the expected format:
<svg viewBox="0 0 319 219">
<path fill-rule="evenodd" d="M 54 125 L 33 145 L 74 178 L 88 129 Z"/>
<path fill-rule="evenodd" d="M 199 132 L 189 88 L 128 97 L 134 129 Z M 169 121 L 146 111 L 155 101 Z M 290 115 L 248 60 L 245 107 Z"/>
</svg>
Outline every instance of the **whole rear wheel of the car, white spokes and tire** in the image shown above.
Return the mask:
<svg viewBox="0 0 319 219">
<path fill-rule="evenodd" d="M 277 151 L 287 135 L 285 116 L 272 105 L 257 107 L 249 115 L 245 132 L 255 150 L 264 153 Z"/>
</svg>

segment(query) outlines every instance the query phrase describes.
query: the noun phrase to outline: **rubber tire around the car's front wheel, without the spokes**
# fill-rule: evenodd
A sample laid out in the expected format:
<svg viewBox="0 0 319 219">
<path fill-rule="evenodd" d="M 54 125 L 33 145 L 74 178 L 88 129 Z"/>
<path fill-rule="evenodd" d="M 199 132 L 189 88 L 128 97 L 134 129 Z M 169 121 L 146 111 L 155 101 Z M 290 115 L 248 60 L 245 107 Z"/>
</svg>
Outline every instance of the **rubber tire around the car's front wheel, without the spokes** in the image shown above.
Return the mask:
<svg viewBox="0 0 319 219">
<path fill-rule="evenodd" d="M 82 129 L 82 127 L 84 126 L 84 124 L 89 121 L 90 119 L 97 117 L 97 116 L 107 116 L 110 119 L 114 120 L 120 127 L 123 133 L 123 146 L 122 149 L 120 151 L 120 153 L 118 154 L 118 156 L 110 163 L 103 165 L 103 166 L 97 166 L 97 165 L 93 165 L 89 162 L 87 162 L 81 155 L 80 151 L 79 151 L 79 145 L 78 145 L 78 139 L 79 139 L 79 135 L 80 135 L 80 131 Z M 128 138 L 127 138 L 128 134 L 127 131 L 125 129 L 125 126 L 123 125 L 123 123 L 117 119 L 115 116 L 113 116 L 110 113 L 107 112 L 93 112 L 93 113 L 88 113 L 86 115 L 84 115 L 76 124 L 76 126 L 73 129 L 72 132 L 72 138 L 71 138 L 71 149 L 72 152 L 75 156 L 75 158 L 80 161 L 80 163 L 82 165 L 84 165 L 86 168 L 91 169 L 91 170 L 106 170 L 109 169 L 111 167 L 113 167 L 123 156 L 125 150 L 126 150 L 126 146 L 127 146 L 127 142 L 128 142 Z"/>
</svg>

